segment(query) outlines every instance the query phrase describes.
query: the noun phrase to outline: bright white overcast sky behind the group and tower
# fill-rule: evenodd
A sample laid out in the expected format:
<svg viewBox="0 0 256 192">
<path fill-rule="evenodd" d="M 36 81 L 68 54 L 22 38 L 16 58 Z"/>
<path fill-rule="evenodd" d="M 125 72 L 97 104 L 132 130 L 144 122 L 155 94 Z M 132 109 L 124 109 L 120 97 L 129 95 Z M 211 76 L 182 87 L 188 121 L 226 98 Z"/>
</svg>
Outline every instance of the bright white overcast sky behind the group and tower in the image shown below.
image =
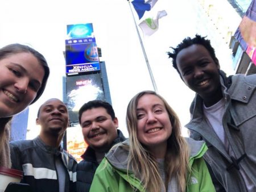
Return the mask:
<svg viewBox="0 0 256 192">
<path fill-rule="evenodd" d="M 198 11 L 196 3 L 196 0 L 158 0 L 143 18 L 166 10 L 167 16 L 159 20 L 159 30 L 149 37 L 144 37 L 139 28 L 158 93 L 177 112 L 183 127 L 189 121 L 189 106 L 195 93 L 181 81 L 166 52 L 184 37 L 195 36 L 196 33 L 212 38 L 209 33 L 212 28 L 204 26 L 204 23 L 210 21 L 204 18 L 205 12 Z M 133 6 L 131 9 L 133 10 Z M 35 137 L 34 134 L 38 131 L 35 119 L 39 106 L 49 98 L 63 99 L 66 26 L 79 23 L 93 23 L 96 43 L 102 52 L 100 60 L 106 63 L 110 95 L 119 119 L 119 129 L 128 136 L 125 124 L 127 104 L 139 91 L 154 90 L 131 9 L 129 2 L 125 0 L 1 2 L 0 47 L 10 43 L 28 44 L 46 57 L 51 70 L 42 97 L 30 106 L 28 129 L 33 134 L 29 137 Z M 134 16 L 138 24 L 135 11 Z M 240 20 L 233 19 L 232 22 L 234 26 L 238 26 Z M 201 24 L 200 27 L 200 23 L 203 23 L 203 26 Z M 216 33 L 216 36 L 219 40 L 213 42 L 213 47 L 217 47 L 216 55 L 221 68 L 232 74 L 228 44 L 222 43 L 220 34 Z M 185 128 L 183 135 L 187 136 Z M 29 137 L 27 139 L 30 139 Z"/>
</svg>

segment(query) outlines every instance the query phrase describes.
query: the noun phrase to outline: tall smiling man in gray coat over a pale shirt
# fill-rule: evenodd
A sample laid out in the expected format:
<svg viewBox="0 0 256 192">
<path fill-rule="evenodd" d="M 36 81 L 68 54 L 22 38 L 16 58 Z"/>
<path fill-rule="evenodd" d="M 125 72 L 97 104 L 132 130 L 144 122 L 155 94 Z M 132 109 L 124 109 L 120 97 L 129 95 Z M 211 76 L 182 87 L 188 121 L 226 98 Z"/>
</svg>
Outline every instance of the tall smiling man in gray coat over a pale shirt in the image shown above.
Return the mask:
<svg viewBox="0 0 256 192">
<path fill-rule="evenodd" d="M 208 145 L 204 158 L 216 190 L 255 192 L 256 75 L 226 77 L 210 41 L 200 35 L 172 49 L 174 68 L 196 92 L 186 127 L 193 139 Z"/>
</svg>

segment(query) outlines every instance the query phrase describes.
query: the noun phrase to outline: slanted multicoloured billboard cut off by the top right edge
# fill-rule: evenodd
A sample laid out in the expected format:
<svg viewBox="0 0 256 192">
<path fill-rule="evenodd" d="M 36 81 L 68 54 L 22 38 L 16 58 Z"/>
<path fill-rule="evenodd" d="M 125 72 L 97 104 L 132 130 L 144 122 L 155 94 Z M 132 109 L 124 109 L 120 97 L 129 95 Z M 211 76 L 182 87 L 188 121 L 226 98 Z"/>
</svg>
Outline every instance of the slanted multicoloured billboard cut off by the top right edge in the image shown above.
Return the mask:
<svg viewBox="0 0 256 192">
<path fill-rule="evenodd" d="M 234 36 L 256 65 L 256 0 L 251 1 Z"/>
</svg>

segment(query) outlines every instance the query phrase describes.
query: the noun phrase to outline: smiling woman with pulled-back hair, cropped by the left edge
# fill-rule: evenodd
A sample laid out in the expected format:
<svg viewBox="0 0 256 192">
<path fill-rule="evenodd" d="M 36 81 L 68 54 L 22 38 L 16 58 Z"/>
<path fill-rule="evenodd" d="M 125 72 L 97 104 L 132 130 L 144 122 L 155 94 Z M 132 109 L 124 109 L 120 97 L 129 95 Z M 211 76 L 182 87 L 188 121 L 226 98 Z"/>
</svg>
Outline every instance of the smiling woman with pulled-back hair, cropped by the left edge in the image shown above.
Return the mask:
<svg viewBox="0 0 256 192">
<path fill-rule="evenodd" d="M 0 49 L 0 71 L 0 166 L 10 168 L 9 122 L 43 94 L 49 68 L 35 49 L 10 44 Z"/>
</svg>

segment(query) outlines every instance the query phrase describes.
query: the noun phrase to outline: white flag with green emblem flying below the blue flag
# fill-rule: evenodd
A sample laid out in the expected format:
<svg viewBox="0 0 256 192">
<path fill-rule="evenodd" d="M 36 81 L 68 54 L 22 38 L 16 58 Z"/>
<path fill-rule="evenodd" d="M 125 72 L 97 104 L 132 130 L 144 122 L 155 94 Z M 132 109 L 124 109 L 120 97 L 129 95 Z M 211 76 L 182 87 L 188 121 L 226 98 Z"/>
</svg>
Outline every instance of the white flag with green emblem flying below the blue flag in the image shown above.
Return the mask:
<svg viewBox="0 0 256 192">
<path fill-rule="evenodd" d="M 154 34 L 158 30 L 158 19 L 166 16 L 167 12 L 165 10 L 158 11 L 156 17 L 144 19 L 141 23 L 139 23 L 139 27 L 141 27 L 144 36 L 150 36 Z"/>
</svg>

